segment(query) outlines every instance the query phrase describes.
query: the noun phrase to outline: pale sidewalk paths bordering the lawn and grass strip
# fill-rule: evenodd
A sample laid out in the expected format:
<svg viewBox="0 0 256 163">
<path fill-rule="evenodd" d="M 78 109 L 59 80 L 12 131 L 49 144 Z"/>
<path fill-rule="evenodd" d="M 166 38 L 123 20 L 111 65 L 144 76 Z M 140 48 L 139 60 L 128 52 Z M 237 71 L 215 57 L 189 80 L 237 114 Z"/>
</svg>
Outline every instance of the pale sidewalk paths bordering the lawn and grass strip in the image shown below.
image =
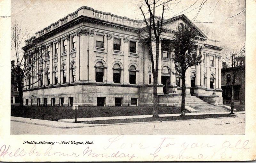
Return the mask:
<svg viewBox="0 0 256 163">
<path fill-rule="evenodd" d="M 207 115 L 210 113 L 187 113 L 186 115 Z M 227 113 L 211 113 L 211 114 L 227 114 Z M 180 116 L 180 114 L 164 114 L 159 115 L 160 117 L 174 117 Z M 134 119 L 134 118 L 150 118 L 152 115 L 135 115 L 135 116 L 116 116 L 116 117 L 94 117 L 94 118 L 78 118 L 77 121 L 104 121 L 104 120 L 119 120 L 119 119 Z M 245 112 L 236 112 L 235 117 L 245 117 Z M 219 119 L 223 117 L 217 118 L 206 118 L 206 119 Z M 234 118 L 234 117 L 225 117 L 225 118 Z M 196 119 L 187 119 L 187 120 L 176 120 L 176 121 L 193 121 Z M 81 128 L 81 127 L 94 127 L 94 126 L 107 126 L 107 125 L 121 125 L 121 124 L 137 124 L 137 123 L 154 123 L 154 122 L 162 122 L 162 121 L 151 121 L 151 122 L 132 122 L 132 123 L 113 123 L 113 124 L 90 124 L 90 123 L 74 123 L 75 119 L 63 119 L 57 121 L 47 121 L 47 120 L 40 120 L 40 119 L 31 119 L 31 118 L 22 118 L 22 117 L 14 117 L 11 116 L 11 121 L 14 122 L 22 122 L 28 124 L 35 124 L 40 126 L 46 127 L 53 127 L 53 128 L 62 128 L 62 129 L 69 129 L 69 128 Z M 170 122 L 170 121 L 163 121 L 163 122 Z"/>
</svg>

